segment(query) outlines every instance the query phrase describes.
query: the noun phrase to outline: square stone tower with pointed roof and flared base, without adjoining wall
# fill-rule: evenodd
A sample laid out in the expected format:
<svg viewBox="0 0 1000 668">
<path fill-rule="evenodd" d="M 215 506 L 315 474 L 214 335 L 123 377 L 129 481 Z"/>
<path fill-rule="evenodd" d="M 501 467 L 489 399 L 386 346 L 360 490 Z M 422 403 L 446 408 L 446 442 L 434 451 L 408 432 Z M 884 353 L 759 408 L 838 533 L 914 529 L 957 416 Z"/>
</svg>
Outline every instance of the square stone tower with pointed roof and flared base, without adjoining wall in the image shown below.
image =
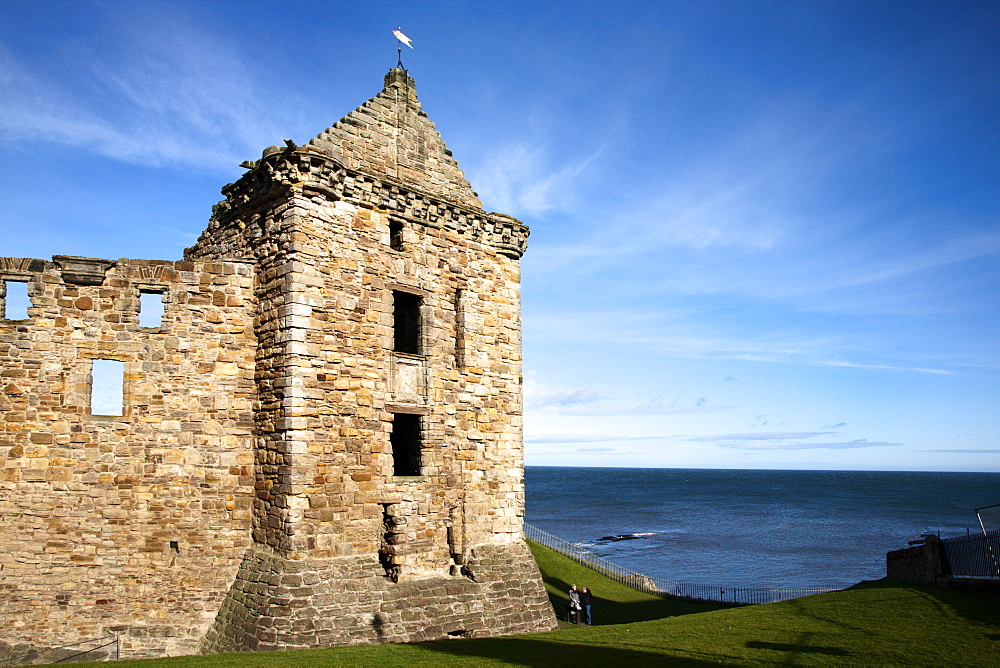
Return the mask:
<svg viewBox="0 0 1000 668">
<path fill-rule="evenodd" d="M 205 647 L 550 628 L 521 539 L 527 229 L 483 212 L 406 70 L 287 144 L 186 253 L 258 275 L 254 545 Z"/>
</svg>

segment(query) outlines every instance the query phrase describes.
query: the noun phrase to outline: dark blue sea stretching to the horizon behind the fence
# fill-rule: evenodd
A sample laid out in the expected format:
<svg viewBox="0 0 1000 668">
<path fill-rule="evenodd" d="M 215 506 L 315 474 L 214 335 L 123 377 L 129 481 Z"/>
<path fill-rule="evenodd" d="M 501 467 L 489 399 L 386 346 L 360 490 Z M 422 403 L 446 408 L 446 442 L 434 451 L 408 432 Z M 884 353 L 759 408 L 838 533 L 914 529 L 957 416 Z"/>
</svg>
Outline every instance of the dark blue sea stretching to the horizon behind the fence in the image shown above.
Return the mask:
<svg viewBox="0 0 1000 668">
<path fill-rule="evenodd" d="M 529 524 L 651 577 L 840 588 L 923 534 L 981 532 L 1000 473 L 528 466 L 525 495 Z"/>
</svg>

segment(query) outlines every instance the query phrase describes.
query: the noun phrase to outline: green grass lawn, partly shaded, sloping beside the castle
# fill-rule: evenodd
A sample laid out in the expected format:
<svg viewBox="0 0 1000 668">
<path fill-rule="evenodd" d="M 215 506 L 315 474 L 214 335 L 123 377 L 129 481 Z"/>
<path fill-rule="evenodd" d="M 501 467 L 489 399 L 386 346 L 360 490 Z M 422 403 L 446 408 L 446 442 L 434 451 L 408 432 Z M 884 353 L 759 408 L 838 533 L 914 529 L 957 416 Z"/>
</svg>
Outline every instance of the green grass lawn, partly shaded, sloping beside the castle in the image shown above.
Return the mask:
<svg viewBox="0 0 1000 668">
<path fill-rule="evenodd" d="M 562 613 L 594 590 L 595 626 L 503 638 L 122 662 L 128 666 L 1000 666 L 1000 598 L 879 580 L 768 605 L 659 599 L 532 545 Z M 639 621 L 645 620 L 645 621 Z M 628 622 L 615 623 L 609 622 Z"/>
</svg>

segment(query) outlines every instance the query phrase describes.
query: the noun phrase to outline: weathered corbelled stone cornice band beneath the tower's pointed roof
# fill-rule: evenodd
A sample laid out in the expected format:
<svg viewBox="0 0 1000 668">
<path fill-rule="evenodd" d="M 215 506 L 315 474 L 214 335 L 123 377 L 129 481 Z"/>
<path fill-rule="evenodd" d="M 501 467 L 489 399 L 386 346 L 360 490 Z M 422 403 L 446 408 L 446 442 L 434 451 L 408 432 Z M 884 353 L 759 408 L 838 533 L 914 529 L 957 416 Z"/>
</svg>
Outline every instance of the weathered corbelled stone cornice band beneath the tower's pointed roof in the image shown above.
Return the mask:
<svg viewBox="0 0 1000 668">
<path fill-rule="evenodd" d="M 389 177 L 348 169 L 335 157 L 310 146 L 265 152 L 250 172 L 222 188 L 226 199 L 212 207 L 209 230 L 242 220 L 261 203 L 296 189 L 388 212 L 418 225 L 443 228 L 493 246 L 514 259 L 520 259 L 528 245 L 528 226 L 513 216 L 447 202 Z"/>
</svg>

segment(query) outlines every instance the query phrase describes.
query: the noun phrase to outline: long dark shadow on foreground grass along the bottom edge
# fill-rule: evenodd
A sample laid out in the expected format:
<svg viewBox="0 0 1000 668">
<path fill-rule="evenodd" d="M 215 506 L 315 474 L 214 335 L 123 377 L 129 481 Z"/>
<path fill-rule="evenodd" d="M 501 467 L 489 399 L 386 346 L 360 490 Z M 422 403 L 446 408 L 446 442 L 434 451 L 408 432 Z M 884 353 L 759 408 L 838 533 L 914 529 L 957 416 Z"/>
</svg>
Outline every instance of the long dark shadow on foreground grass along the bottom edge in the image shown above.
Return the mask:
<svg viewBox="0 0 1000 668">
<path fill-rule="evenodd" d="M 477 638 L 461 641 L 438 641 L 423 644 L 424 649 L 464 657 L 492 659 L 515 665 L 663 665 L 672 666 L 718 665 L 724 657 L 708 652 L 701 657 L 684 657 L 664 651 L 650 651 L 636 647 L 608 647 L 603 644 L 546 641 L 534 638 Z"/>
</svg>

